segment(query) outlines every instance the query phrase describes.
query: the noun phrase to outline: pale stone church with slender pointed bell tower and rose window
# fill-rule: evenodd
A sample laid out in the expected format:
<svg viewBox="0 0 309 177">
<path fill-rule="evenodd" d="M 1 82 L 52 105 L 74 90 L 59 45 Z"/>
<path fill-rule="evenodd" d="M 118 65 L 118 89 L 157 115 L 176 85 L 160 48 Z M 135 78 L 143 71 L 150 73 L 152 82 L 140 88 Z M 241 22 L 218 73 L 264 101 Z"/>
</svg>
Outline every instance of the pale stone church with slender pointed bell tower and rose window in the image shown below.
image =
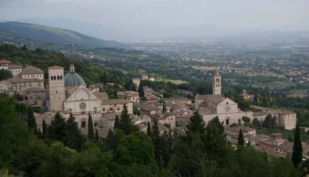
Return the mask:
<svg viewBox="0 0 309 177">
<path fill-rule="evenodd" d="M 229 126 L 232 123 L 244 123 L 243 116 L 250 117 L 251 120 L 253 117 L 251 111 L 241 111 L 236 102 L 225 98 L 221 94 L 221 76 L 218 70 L 213 75 L 213 94 L 197 94 L 195 97 L 195 109 L 199 110 L 206 123 L 218 116 L 220 122 L 223 121 L 224 126 Z"/>
</svg>

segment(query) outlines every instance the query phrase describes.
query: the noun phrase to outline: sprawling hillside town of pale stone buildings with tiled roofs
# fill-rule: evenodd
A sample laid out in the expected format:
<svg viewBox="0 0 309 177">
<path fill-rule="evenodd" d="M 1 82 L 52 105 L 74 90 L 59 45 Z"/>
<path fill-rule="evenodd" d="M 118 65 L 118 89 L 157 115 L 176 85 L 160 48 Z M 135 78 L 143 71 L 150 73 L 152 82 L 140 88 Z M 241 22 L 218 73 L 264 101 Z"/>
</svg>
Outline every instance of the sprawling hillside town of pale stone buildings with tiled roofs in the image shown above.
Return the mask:
<svg viewBox="0 0 309 177">
<path fill-rule="evenodd" d="M 227 141 L 237 144 L 240 128 L 242 128 L 245 142 L 255 145 L 256 149 L 265 150 L 276 156 L 286 156 L 292 152 L 293 143 L 282 139 L 282 134 L 275 133 L 272 137 L 257 135 L 254 128 L 245 127 L 243 117 L 249 117 L 251 121 L 257 118 L 262 122 L 271 114 L 277 117 L 276 124 L 285 129 L 292 130 L 296 126 L 296 113 L 280 111 L 259 106 L 251 106 L 250 111 L 243 111 L 238 104 L 221 94 L 221 76 L 216 70 L 213 75 L 213 94 L 196 95 L 195 102 L 187 98 L 159 98 L 151 87 L 143 86 L 147 101 L 141 101 L 138 92 L 117 92 L 118 99 L 109 99 L 106 92 L 99 92 L 99 87 L 112 85 L 97 84 L 86 86 L 83 78 L 75 72 L 73 64 L 68 66 L 69 73 L 64 75 L 64 68 L 51 66 L 48 69 L 49 82 L 44 86 L 44 71 L 40 68 L 27 66 L 25 68 L 11 64 L 10 61 L 1 60 L 0 69 L 12 71 L 13 78 L 0 81 L 1 93 L 10 96 L 19 94 L 22 103 L 33 107 L 41 107 L 45 113 L 35 113 L 36 124 L 42 126 L 43 119 L 47 125 L 51 123 L 57 111 L 64 118 L 72 113 L 78 127 L 87 135 L 88 113 L 92 116 L 93 126 L 98 130 L 100 140 L 103 141 L 108 130 L 113 129 L 115 117 L 120 116 L 124 105 L 128 108 L 135 125 L 141 131 L 147 131 L 147 122 L 153 124 L 154 120 L 159 122 L 160 133 L 176 129 L 179 135 L 185 135 L 185 126 L 190 116 L 199 111 L 204 121 L 212 122 L 218 116 L 223 122 Z M 141 78 L 141 79 L 145 79 Z M 139 85 L 140 78 L 134 78 L 133 82 Z M 160 95 L 160 94 L 159 94 Z M 253 95 L 240 94 L 240 97 L 252 99 Z M 138 115 L 133 114 L 133 107 L 138 109 Z M 165 108 L 165 109 L 164 109 Z M 232 124 L 237 126 L 230 127 Z M 308 157 L 309 145 L 303 146 L 303 158 Z"/>
</svg>

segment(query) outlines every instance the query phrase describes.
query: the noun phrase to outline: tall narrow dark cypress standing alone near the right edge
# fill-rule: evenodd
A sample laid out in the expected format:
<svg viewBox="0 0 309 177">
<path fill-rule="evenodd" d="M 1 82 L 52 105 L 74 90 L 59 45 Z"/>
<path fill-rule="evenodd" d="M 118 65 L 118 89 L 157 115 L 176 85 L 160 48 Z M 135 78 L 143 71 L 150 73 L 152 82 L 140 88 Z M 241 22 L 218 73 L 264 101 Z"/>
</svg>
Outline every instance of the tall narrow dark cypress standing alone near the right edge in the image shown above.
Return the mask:
<svg viewBox="0 0 309 177">
<path fill-rule="evenodd" d="M 291 161 L 293 162 L 295 167 L 297 167 L 297 165 L 300 162 L 302 162 L 302 145 L 301 145 L 301 139 L 300 139 L 299 122 L 296 123 L 295 134 L 294 134 L 293 153 L 292 153 Z"/>
</svg>

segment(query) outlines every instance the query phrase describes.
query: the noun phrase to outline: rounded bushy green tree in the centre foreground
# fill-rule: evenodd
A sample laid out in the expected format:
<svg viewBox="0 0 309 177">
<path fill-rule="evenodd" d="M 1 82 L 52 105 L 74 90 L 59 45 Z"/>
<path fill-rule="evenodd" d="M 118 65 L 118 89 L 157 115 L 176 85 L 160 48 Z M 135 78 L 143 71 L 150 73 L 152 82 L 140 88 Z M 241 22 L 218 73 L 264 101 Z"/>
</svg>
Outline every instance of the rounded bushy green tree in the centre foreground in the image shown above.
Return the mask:
<svg viewBox="0 0 309 177">
<path fill-rule="evenodd" d="M 114 159 L 120 165 L 149 164 L 155 158 L 151 139 L 141 131 L 123 138 L 117 146 Z"/>
</svg>

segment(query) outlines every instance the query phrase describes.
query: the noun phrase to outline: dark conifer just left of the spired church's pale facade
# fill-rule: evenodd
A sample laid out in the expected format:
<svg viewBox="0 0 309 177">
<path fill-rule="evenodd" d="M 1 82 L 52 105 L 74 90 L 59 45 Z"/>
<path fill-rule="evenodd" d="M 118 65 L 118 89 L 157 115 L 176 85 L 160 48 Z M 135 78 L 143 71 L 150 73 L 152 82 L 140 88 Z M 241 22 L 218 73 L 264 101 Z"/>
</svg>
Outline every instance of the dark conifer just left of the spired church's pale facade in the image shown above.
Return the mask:
<svg viewBox="0 0 309 177">
<path fill-rule="evenodd" d="M 203 117 L 199 114 L 199 110 L 197 110 L 193 115 L 190 116 L 190 122 L 186 124 L 186 132 L 190 131 L 199 131 L 201 134 L 204 134 L 205 128 L 205 121 Z"/>
</svg>

